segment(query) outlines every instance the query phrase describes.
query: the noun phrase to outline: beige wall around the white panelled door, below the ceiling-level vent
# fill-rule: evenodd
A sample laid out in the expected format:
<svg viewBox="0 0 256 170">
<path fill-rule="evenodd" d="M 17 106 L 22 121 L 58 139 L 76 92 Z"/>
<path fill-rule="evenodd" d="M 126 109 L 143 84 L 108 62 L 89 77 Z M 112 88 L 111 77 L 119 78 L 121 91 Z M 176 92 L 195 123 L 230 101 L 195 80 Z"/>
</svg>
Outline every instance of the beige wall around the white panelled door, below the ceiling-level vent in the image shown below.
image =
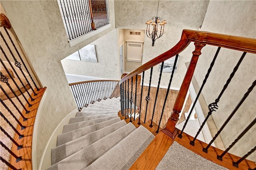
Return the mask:
<svg viewBox="0 0 256 170">
<path fill-rule="evenodd" d="M 130 35 L 130 31 L 132 32 L 141 32 L 140 36 Z M 134 69 L 140 67 L 142 62 L 134 62 L 134 61 L 127 61 L 127 42 L 126 40 L 130 41 L 140 41 L 144 42 L 144 30 L 126 30 L 124 29 L 124 71 L 131 72 Z M 142 49 L 143 50 L 143 49 Z M 143 51 L 142 51 L 143 53 Z M 142 57 L 143 59 L 143 57 Z"/>
</svg>

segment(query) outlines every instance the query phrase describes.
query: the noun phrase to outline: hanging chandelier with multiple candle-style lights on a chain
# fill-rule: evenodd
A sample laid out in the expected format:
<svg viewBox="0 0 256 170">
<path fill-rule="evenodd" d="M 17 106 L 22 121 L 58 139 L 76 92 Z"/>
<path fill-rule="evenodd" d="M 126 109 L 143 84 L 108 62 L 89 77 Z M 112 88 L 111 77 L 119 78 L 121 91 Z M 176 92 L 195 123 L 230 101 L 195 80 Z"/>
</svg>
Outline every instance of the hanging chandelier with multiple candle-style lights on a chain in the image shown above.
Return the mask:
<svg viewBox="0 0 256 170">
<path fill-rule="evenodd" d="M 156 16 L 152 17 L 151 20 L 148 20 L 146 22 L 147 24 L 147 30 L 146 35 L 151 38 L 152 40 L 152 46 L 154 47 L 155 41 L 160 38 L 164 34 L 164 25 L 167 24 L 166 20 L 161 21 L 162 18 L 157 16 L 158 15 L 158 7 L 159 7 L 159 0 L 158 0 L 158 6 L 157 6 L 157 12 Z M 152 20 L 154 22 L 152 22 Z M 151 24 L 152 23 L 152 24 Z M 160 23 L 160 24 L 159 24 Z M 150 32 L 150 24 L 153 26 L 152 31 Z M 159 28 L 158 28 L 159 26 Z M 161 27 L 160 27 L 161 26 Z M 152 28 L 152 27 L 151 27 Z"/>
</svg>

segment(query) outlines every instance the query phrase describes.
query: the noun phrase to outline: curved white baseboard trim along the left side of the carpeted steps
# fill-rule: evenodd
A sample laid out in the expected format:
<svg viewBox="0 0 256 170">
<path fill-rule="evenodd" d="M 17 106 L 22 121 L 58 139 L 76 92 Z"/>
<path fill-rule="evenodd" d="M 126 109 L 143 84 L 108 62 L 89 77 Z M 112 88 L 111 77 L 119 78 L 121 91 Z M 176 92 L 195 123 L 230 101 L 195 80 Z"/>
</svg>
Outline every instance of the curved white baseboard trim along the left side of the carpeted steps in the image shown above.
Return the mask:
<svg viewBox="0 0 256 170">
<path fill-rule="evenodd" d="M 58 134 L 62 133 L 64 125 L 68 124 L 69 119 L 71 117 L 75 117 L 77 112 L 78 112 L 77 108 L 72 110 L 68 115 L 66 115 L 66 117 L 64 117 L 64 119 L 62 119 L 62 121 L 60 121 L 60 123 L 57 125 L 57 127 L 53 130 L 53 132 L 52 132 L 50 138 L 48 139 L 46 146 L 44 148 L 44 152 L 42 154 L 40 164 L 38 166 L 39 170 L 45 170 L 46 168 L 51 166 L 51 150 L 52 150 L 52 148 L 56 147 L 57 136 L 58 136 Z"/>
</svg>

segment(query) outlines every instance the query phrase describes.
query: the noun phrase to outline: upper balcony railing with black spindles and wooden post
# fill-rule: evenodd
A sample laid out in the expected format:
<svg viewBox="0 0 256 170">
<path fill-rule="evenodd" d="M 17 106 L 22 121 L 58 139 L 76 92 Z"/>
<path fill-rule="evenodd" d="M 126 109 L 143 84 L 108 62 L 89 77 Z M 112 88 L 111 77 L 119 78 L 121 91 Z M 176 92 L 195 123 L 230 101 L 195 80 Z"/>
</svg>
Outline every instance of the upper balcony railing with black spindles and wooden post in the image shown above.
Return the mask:
<svg viewBox="0 0 256 170">
<path fill-rule="evenodd" d="M 58 0 L 69 40 L 109 24 L 107 0 Z"/>
</svg>

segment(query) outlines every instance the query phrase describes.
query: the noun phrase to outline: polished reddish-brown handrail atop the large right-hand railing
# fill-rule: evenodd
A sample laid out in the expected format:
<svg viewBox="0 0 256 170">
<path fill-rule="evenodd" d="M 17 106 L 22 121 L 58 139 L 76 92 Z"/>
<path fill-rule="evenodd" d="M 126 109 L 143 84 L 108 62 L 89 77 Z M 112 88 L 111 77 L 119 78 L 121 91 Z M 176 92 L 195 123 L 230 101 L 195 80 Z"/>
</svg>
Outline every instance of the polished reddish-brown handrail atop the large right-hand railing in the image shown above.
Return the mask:
<svg viewBox="0 0 256 170">
<path fill-rule="evenodd" d="M 120 80 L 119 83 L 121 84 L 127 79 L 130 79 L 132 76 L 140 74 L 143 71 L 158 65 L 166 59 L 174 57 L 175 55 L 182 52 L 190 44 L 190 42 L 225 47 L 249 53 L 256 53 L 256 39 L 253 38 L 229 36 L 225 34 L 216 34 L 204 31 L 183 30 L 180 41 L 174 47 L 141 65 L 131 73 L 127 74 Z"/>
</svg>

